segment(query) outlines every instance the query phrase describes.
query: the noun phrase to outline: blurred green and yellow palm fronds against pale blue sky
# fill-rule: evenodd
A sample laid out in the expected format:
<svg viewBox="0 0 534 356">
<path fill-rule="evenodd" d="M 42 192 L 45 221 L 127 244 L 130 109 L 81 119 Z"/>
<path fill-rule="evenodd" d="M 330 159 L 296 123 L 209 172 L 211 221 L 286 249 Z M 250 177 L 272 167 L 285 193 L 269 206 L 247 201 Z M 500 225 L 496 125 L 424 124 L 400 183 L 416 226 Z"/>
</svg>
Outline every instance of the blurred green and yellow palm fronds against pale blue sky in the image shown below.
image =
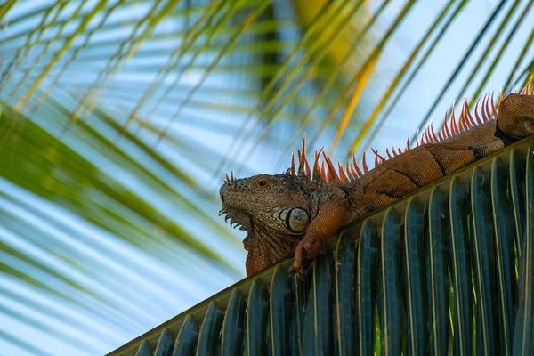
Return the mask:
<svg viewBox="0 0 534 356">
<path fill-rule="evenodd" d="M 242 278 L 224 172 L 524 85 L 532 4 L 0 2 L 0 350 L 109 352 Z"/>
</svg>

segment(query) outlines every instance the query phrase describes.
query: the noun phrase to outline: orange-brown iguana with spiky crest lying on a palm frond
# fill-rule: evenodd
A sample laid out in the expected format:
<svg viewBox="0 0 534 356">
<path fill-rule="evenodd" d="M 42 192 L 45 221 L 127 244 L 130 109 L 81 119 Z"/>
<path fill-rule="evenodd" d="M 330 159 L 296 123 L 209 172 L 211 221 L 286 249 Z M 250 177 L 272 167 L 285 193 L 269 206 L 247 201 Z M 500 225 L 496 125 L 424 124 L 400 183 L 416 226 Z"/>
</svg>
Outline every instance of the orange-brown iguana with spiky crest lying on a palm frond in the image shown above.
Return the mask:
<svg viewBox="0 0 534 356">
<path fill-rule="evenodd" d="M 417 147 L 376 150 L 375 168 L 362 167 L 352 160 L 338 171 L 322 149 L 315 151 L 311 169 L 306 158 L 305 135 L 285 174 L 259 174 L 236 179 L 226 175 L 220 190 L 226 220 L 247 231 L 243 240 L 247 254 L 247 276 L 294 253 L 292 271 L 302 274 L 304 266 L 320 253 L 320 248 L 341 227 L 389 206 L 399 198 L 439 180 L 473 161 L 534 134 L 534 96 L 529 88 L 493 97 L 485 95 L 475 117 L 466 101 L 456 120 L 454 108 L 449 124 L 435 134 L 427 126 Z M 497 109 L 498 108 L 498 109 Z M 324 161 L 320 164 L 320 155 Z M 326 162 L 326 168 L 324 166 Z"/>
</svg>

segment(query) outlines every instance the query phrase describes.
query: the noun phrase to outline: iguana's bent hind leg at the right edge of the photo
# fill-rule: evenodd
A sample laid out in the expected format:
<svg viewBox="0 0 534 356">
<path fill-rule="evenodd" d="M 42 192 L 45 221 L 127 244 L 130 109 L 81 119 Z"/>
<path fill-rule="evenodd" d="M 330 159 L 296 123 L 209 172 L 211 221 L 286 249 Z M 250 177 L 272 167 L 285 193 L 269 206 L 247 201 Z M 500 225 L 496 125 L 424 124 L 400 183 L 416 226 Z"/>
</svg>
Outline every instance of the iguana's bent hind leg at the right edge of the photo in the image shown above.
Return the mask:
<svg viewBox="0 0 534 356">
<path fill-rule="evenodd" d="M 515 140 L 534 134 L 534 95 L 508 94 L 498 107 L 497 125 Z"/>
</svg>

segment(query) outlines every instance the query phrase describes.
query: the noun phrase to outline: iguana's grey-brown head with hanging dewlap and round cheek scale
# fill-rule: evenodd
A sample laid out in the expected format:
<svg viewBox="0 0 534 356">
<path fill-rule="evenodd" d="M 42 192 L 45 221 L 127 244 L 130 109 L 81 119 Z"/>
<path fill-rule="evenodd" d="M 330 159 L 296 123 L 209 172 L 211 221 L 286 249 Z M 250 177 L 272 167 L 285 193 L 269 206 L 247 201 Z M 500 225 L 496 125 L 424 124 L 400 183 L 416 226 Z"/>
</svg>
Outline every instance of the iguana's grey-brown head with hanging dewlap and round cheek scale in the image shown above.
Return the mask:
<svg viewBox="0 0 534 356">
<path fill-rule="evenodd" d="M 231 174 L 220 189 L 221 214 L 226 214 L 226 221 L 235 224 L 234 227 L 247 231 L 243 240 L 248 252 L 247 275 L 293 253 L 321 202 L 339 190 L 335 170 L 332 173 L 328 169 L 328 173 L 324 166 L 320 168 L 320 152 L 315 153 L 313 175 L 305 154 L 298 151 L 298 156 L 298 168 L 292 158 L 291 168 L 285 174 L 259 174 L 243 179 L 234 179 Z M 329 158 L 327 164 L 328 168 L 332 166 Z"/>
</svg>

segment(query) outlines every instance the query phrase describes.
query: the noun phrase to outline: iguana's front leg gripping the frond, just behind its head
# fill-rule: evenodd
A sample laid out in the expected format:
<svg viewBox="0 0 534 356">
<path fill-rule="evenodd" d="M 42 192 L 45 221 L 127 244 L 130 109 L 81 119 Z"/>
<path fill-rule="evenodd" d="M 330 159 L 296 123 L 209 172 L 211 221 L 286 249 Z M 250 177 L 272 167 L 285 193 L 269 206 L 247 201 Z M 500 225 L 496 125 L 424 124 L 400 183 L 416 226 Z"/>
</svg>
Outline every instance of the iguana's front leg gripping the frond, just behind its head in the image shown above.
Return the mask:
<svg viewBox="0 0 534 356">
<path fill-rule="evenodd" d="M 320 213 L 308 227 L 304 238 L 296 246 L 291 271 L 302 276 L 304 261 L 312 260 L 319 255 L 320 248 L 325 246 L 328 239 L 347 223 L 348 214 L 349 203 L 344 196 L 335 194 L 328 198 L 328 201 L 321 206 Z"/>
</svg>

